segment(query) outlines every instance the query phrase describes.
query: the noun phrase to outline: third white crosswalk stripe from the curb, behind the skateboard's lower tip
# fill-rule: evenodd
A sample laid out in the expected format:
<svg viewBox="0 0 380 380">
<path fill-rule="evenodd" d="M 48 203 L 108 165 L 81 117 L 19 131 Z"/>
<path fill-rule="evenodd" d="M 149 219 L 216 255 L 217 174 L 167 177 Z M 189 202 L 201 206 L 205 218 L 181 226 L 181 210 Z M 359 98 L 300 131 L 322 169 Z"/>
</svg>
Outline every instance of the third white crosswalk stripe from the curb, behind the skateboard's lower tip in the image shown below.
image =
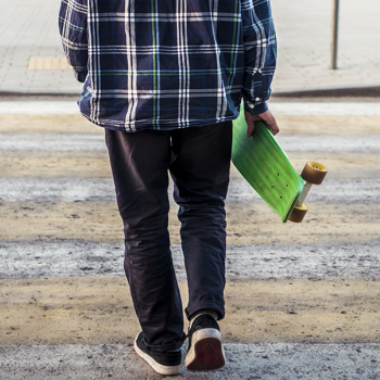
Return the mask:
<svg viewBox="0 0 380 380">
<path fill-rule="evenodd" d="M 173 202 L 173 181 L 169 181 L 169 200 Z M 0 178 L 0 200 L 7 202 L 115 202 L 113 180 L 110 178 Z M 258 202 L 259 195 L 242 177 L 230 182 L 227 202 Z M 379 202 L 380 179 L 327 178 L 316 186 L 307 197 L 307 203 L 355 203 Z"/>
</svg>

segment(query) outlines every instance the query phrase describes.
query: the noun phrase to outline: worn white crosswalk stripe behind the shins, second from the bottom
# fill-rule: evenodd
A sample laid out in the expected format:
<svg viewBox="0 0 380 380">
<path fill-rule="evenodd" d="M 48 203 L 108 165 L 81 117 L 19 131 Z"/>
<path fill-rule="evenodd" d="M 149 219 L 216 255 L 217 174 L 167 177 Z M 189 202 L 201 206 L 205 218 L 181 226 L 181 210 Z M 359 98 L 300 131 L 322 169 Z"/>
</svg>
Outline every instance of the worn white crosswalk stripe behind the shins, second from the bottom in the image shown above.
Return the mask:
<svg viewBox="0 0 380 380">
<path fill-rule="evenodd" d="M 186 280 L 179 244 L 172 245 L 179 280 Z M 228 245 L 226 277 L 378 276 L 380 246 L 363 244 Z M 122 244 L 83 241 L 0 242 L 0 278 L 124 276 Z"/>
</svg>

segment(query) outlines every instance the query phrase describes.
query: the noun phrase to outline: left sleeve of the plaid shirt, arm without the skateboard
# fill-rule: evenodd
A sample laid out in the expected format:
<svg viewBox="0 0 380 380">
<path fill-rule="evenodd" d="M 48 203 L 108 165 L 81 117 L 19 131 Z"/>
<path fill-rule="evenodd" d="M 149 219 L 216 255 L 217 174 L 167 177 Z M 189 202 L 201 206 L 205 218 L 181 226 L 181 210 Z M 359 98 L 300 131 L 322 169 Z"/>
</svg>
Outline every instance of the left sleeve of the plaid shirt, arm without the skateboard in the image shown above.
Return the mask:
<svg viewBox="0 0 380 380">
<path fill-rule="evenodd" d="M 62 0 L 59 24 L 68 64 L 83 83 L 88 74 L 87 0 Z"/>
</svg>

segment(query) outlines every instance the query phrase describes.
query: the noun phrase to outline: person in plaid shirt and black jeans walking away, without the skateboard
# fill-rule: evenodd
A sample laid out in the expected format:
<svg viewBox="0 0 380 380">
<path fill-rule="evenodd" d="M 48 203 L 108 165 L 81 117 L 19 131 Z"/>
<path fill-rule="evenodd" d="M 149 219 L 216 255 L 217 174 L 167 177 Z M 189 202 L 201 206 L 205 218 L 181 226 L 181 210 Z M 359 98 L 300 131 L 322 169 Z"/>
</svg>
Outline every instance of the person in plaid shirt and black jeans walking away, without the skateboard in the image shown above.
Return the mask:
<svg viewBox="0 0 380 380">
<path fill-rule="evenodd" d="M 248 136 L 259 119 L 279 131 L 266 103 L 276 65 L 269 0 L 62 0 L 59 25 L 84 83 L 80 113 L 105 130 L 142 330 L 135 350 L 159 373 L 179 373 L 186 334 L 168 233 L 169 172 L 189 288 L 185 364 L 219 368 L 225 199 L 242 99 Z"/>
</svg>

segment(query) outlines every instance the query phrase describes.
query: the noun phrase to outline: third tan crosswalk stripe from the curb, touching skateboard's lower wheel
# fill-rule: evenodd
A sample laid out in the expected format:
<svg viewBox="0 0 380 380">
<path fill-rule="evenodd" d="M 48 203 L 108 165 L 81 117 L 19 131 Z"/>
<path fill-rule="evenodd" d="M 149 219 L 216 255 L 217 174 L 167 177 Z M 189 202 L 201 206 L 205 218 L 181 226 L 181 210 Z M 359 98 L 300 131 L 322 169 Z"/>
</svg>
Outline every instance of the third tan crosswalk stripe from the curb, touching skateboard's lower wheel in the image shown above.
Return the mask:
<svg viewBox="0 0 380 380">
<path fill-rule="evenodd" d="M 115 202 L 2 202 L 3 240 L 74 239 L 119 242 Z M 180 243 L 178 207 L 169 211 L 170 241 Z M 282 224 L 264 202 L 228 202 L 228 244 L 322 244 L 379 241 L 380 203 L 313 202 L 302 224 Z"/>
</svg>

